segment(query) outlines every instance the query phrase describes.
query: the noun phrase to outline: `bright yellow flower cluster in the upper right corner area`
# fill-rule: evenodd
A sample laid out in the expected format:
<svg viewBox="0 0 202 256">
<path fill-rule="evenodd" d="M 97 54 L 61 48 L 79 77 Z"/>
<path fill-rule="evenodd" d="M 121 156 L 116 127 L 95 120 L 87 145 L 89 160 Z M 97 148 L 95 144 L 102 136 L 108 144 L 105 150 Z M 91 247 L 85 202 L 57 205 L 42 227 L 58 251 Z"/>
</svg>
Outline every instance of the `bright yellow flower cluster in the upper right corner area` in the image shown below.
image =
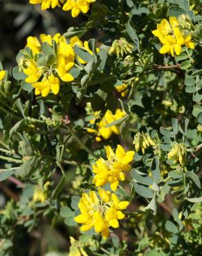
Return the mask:
<svg viewBox="0 0 202 256">
<path fill-rule="evenodd" d="M 187 48 L 194 49 L 191 35 L 185 36 L 181 33 L 176 17 L 169 17 L 169 22 L 167 19 L 163 19 L 160 21 L 160 24 L 157 24 L 157 29 L 153 30 L 152 33 L 163 44 L 159 51 L 161 54 L 170 53 L 172 56 L 175 54 L 180 55 L 183 45 Z"/>
</svg>

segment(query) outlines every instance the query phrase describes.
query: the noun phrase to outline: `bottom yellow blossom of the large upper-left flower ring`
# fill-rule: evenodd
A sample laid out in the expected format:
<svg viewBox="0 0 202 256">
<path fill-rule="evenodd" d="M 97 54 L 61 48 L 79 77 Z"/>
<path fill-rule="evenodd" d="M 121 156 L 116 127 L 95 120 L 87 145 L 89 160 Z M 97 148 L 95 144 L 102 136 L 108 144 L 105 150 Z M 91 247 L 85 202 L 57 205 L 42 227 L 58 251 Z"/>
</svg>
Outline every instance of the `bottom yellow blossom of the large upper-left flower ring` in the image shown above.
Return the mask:
<svg viewBox="0 0 202 256">
<path fill-rule="evenodd" d="M 42 93 L 42 97 L 46 97 L 50 90 L 56 95 L 59 93 L 59 79 L 54 75 L 49 75 L 48 78 L 44 77 L 42 82 L 32 84 L 35 87 L 35 95 Z"/>
</svg>

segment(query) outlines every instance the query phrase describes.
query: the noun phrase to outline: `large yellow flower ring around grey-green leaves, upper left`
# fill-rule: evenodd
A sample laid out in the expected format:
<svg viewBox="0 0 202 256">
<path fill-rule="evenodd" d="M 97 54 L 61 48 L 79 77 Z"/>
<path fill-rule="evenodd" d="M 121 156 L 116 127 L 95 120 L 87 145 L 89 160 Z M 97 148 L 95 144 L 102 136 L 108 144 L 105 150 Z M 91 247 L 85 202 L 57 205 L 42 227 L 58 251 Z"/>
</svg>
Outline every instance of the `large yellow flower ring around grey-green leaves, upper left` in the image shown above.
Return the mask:
<svg viewBox="0 0 202 256">
<path fill-rule="evenodd" d="M 91 53 L 88 42 L 72 37 L 69 42 L 57 33 L 54 37 L 40 35 L 42 44 L 37 37 L 28 37 L 26 48 L 20 51 L 17 62 L 19 70 L 26 75 L 25 82 L 35 88 L 35 95 L 46 97 L 50 91 L 59 93 L 62 82 L 72 82 L 71 68 L 75 65 L 75 52 L 73 47 L 77 44 Z M 92 54 L 92 53 L 91 53 Z M 78 62 L 84 60 L 77 57 Z"/>
</svg>

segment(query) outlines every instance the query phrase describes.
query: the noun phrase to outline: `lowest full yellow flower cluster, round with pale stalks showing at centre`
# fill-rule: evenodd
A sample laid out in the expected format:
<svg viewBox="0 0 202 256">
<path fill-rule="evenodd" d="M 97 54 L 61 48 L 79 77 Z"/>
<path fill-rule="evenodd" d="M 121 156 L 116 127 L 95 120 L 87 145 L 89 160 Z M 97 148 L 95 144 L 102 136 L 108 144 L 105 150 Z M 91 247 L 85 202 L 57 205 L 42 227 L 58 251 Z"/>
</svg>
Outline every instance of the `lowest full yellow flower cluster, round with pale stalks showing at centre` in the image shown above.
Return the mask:
<svg viewBox="0 0 202 256">
<path fill-rule="evenodd" d="M 98 196 L 99 194 L 99 196 Z M 124 210 L 129 205 L 128 201 L 120 201 L 118 196 L 109 191 L 98 189 L 83 193 L 78 204 L 81 214 L 75 217 L 77 223 L 81 223 L 81 230 L 87 231 L 91 228 L 102 234 L 104 239 L 109 236 L 109 227 L 118 228 L 118 220 L 124 219 Z"/>
</svg>

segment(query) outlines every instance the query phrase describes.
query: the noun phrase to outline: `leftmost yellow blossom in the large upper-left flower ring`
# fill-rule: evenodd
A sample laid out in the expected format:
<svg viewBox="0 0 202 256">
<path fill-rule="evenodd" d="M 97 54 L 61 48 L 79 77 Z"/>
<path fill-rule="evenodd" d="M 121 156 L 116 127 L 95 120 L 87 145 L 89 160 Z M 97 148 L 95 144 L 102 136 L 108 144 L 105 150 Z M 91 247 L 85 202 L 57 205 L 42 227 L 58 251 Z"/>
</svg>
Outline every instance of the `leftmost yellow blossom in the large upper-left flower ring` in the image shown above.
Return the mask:
<svg viewBox="0 0 202 256">
<path fill-rule="evenodd" d="M 37 67 L 37 63 L 34 60 L 28 60 L 26 66 L 27 68 L 24 68 L 24 73 L 28 77 L 26 77 L 25 81 L 29 84 L 37 82 L 42 75 L 42 70 Z"/>
</svg>

